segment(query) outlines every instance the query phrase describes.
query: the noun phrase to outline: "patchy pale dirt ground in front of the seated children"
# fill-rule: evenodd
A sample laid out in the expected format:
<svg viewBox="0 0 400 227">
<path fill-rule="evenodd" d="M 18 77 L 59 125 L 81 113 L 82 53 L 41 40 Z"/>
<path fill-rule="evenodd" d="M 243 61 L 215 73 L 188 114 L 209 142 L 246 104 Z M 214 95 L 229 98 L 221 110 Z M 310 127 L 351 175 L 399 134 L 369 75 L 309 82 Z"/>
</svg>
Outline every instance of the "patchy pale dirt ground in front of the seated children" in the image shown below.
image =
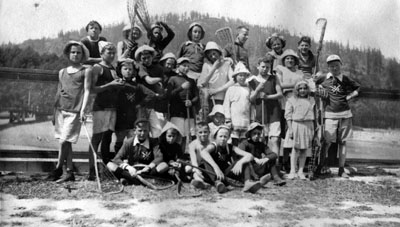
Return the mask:
<svg viewBox="0 0 400 227">
<path fill-rule="evenodd" d="M 42 177 L 1 175 L 0 226 L 400 226 L 400 169 L 268 184 L 256 194 L 211 188 L 196 198 L 179 197 L 176 187 L 107 195 L 84 176 L 63 185 Z"/>
</svg>

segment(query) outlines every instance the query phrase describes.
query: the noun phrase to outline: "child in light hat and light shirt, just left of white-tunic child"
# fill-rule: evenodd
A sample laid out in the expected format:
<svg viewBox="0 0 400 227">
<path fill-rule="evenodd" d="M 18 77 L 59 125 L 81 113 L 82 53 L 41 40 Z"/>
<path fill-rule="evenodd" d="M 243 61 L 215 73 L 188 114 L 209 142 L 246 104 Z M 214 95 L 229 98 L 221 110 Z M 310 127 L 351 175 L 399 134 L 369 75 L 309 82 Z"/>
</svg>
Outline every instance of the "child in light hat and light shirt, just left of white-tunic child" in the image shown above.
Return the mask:
<svg viewBox="0 0 400 227">
<path fill-rule="evenodd" d="M 206 61 L 197 85 L 203 89 L 210 109 L 215 104 L 223 104 L 226 90 L 235 82 L 232 78 L 231 62 L 224 59 L 222 50 L 215 42 L 208 42 L 204 50 Z M 204 113 L 206 116 L 208 113 Z"/>
</svg>

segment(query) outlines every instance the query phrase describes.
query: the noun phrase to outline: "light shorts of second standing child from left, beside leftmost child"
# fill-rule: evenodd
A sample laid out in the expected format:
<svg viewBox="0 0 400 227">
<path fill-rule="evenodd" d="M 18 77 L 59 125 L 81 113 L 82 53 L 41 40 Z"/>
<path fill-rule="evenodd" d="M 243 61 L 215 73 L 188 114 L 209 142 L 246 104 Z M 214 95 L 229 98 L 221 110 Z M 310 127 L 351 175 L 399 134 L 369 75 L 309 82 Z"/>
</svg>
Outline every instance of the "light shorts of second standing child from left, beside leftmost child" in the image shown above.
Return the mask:
<svg viewBox="0 0 400 227">
<path fill-rule="evenodd" d="M 115 110 L 93 111 L 93 134 L 115 131 L 117 112 Z"/>
</svg>

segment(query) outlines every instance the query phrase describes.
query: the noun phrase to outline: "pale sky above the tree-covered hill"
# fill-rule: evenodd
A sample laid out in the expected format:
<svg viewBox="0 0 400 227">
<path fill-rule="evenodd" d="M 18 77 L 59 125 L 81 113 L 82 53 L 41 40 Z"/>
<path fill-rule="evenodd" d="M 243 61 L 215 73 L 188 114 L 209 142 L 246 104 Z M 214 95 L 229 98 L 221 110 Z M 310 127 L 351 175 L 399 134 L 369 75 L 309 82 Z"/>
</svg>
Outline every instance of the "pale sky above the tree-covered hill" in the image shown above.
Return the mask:
<svg viewBox="0 0 400 227">
<path fill-rule="evenodd" d="M 325 39 L 381 49 L 400 59 L 400 0 L 146 0 L 150 15 L 191 10 L 213 17 L 286 28 L 316 37 L 315 21 L 328 21 Z M 35 4 L 37 7 L 35 7 Z M 90 20 L 128 22 L 125 0 L 0 0 L 0 43 L 56 37 Z"/>
</svg>

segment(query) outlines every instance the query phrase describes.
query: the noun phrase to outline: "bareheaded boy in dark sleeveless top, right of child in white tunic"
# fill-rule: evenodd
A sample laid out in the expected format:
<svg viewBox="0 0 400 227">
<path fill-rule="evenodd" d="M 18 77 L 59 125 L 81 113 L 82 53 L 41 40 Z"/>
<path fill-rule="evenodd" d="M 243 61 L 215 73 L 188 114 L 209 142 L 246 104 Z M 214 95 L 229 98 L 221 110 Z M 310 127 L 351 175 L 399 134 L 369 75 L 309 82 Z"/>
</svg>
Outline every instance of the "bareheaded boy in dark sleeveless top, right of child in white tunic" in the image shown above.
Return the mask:
<svg viewBox="0 0 400 227">
<path fill-rule="evenodd" d="M 258 59 L 258 75 L 249 78 L 248 81 L 250 87 L 253 88 L 258 84 L 250 95 L 250 101 L 256 102 L 256 120 L 264 125 L 265 136 L 267 137 L 265 139 L 270 142 L 271 150 L 278 154 L 281 134 L 281 106 L 279 99 L 283 95 L 279 79 L 269 73 L 272 61 L 273 59 L 269 55 Z M 261 100 L 264 100 L 264 102 Z"/>
</svg>

